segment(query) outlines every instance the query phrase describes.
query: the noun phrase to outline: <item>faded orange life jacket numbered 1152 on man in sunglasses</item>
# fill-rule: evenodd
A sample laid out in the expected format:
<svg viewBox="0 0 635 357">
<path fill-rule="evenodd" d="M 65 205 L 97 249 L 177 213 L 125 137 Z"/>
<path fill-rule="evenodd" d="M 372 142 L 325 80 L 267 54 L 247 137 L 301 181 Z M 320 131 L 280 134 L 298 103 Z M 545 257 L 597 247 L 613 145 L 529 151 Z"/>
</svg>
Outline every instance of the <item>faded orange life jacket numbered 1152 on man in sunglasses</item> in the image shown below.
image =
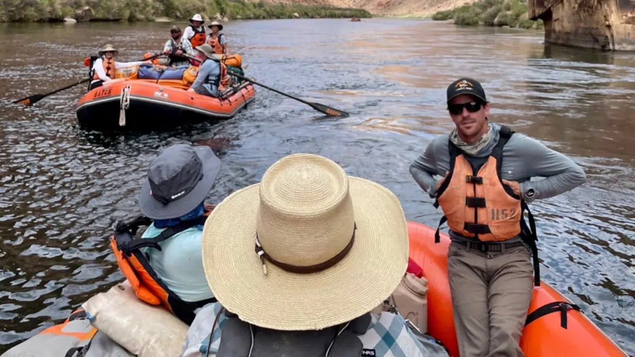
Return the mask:
<svg viewBox="0 0 635 357">
<path fill-rule="evenodd" d="M 514 131 L 502 125 L 499 133 L 497 145 L 485 163 L 478 167 L 472 166 L 465 158 L 465 153 L 451 141 L 448 142 L 450 171 L 437 190 L 434 202 L 434 207 L 438 208 L 440 205 L 444 213 L 439 227 L 448 222 L 448 227 L 452 231 L 484 243 L 505 241 L 520 235 L 532 250 L 535 279 L 539 281 L 533 215 L 525 201 L 515 194 L 511 187 L 503 184 L 500 173 L 503 147 Z M 523 219 L 525 210 L 528 212 L 531 227 L 528 227 Z M 439 229 L 434 238 L 435 243 L 438 243 Z M 486 251 L 486 245 L 480 246 Z"/>
</svg>

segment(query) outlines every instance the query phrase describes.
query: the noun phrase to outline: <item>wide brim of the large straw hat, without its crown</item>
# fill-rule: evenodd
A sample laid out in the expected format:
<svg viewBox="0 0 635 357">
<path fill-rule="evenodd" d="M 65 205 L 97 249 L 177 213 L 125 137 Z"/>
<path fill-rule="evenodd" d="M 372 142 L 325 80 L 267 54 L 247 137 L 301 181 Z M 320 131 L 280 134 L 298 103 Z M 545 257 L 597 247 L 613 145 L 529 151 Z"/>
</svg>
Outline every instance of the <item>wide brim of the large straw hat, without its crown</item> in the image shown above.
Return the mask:
<svg viewBox="0 0 635 357">
<path fill-rule="evenodd" d="M 203 269 L 218 301 L 241 320 L 276 330 L 321 330 L 368 313 L 401 282 L 408 228 L 396 196 L 349 176 L 357 230 L 346 257 L 320 273 L 293 274 L 255 253 L 258 184 L 225 198 L 206 220 Z"/>
</svg>

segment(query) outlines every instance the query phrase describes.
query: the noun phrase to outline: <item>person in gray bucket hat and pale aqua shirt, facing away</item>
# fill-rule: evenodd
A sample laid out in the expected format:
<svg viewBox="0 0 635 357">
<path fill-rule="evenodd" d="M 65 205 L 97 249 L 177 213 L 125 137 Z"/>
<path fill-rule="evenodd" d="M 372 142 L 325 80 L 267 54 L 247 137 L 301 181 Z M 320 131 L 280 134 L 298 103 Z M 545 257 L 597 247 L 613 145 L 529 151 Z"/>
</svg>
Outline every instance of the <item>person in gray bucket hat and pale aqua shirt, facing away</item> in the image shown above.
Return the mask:
<svg viewBox="0 0 635 357">
<path fill-rule="evenodd" d="M 110 245 L 137 297 L 163 305 L 187 324 L 197 309 L 216 301 L 203 271 L 201 236 L 211 211 L 204 199 L 219 171 L 220 160 L 210 147 L 178 144 L 164 149 L 141 187 L 143 215 L 117 224 Z M 140 226 L 148 227 L 135 239 Z"/>
</svg>

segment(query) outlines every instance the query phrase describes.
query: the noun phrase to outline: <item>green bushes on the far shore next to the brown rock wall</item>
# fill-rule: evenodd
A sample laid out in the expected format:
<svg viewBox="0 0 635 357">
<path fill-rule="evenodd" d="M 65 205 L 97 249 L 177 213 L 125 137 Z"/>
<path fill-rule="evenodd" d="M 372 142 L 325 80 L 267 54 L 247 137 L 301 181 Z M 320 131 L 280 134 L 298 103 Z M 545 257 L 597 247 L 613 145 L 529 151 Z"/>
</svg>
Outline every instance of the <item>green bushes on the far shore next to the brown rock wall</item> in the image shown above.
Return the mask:
<svg viewBox="0 0 635 357">
<path fill-rule="evenodd" d="M 439 11 L 432 20 L 453 19 L 457 25 L 509 26 L 522 29 L 542 29 L 542 20 L 528 18 L 527 0 L 481 0 L 460 8 Z"/>
</svg>

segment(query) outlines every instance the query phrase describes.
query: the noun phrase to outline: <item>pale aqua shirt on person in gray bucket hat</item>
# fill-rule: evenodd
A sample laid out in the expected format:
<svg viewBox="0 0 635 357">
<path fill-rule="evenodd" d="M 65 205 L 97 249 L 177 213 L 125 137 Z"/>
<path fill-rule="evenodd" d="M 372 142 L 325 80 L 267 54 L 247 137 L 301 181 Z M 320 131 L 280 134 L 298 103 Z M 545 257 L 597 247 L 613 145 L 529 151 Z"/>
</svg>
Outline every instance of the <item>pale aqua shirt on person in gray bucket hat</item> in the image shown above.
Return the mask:
<svg viewBox="0 0 635 357">
<path fill-rule="evenodd" d="M 163 230 L 154 227 L 153 223 L 141 237 L 154 238 Z M 178 297 L 187 302 L 214 297 L 203 272 L 201 236 L 203 231 L 198 227 L 192 227 L 159 242 L 160 251 L 155 248 L 142 248 L 142 252 L 149 256 L 150 267 L 159 278 Z"/>
</svg>

